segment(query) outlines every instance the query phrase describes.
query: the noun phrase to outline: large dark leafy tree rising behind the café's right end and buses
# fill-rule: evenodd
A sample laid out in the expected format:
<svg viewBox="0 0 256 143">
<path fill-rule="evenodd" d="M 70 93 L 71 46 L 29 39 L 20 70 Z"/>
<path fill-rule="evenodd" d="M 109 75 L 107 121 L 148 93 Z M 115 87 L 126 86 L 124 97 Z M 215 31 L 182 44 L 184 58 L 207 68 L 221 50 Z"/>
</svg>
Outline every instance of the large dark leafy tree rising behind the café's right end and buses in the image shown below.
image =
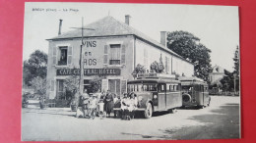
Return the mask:
<svg viewBox="0 0 256 143">
<path fill-rule="evenodd" d="M 167 47 L 184 59 L 194 64 L 195 75 L 209 81 L 211 66 L 211 50 L 200 39 L 187 31 L 173 31 L 167 33 Z"/>
</svg>

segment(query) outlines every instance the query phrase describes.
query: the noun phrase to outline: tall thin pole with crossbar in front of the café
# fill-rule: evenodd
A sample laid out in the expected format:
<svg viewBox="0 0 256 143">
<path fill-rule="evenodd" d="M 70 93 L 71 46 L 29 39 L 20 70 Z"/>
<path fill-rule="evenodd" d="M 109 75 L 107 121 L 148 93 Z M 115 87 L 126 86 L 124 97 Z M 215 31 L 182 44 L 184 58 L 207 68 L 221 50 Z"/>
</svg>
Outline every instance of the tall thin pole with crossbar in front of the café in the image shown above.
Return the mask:
<svg viewBox="0 0 256 143">
<path fill-rule="evenodd" d="M 81 33 L 81 46 L 80 46 L 80 58 L 79 58 L 79 66 L 80 66 L 80 76 L 79 76 L 79 93 L 80 95 L 83 94 L 83 76 L 84 76 L 84 65 L 83 65 L 83 46 L 84 46 L 84 29 L 87 30 L 95 30 L 94 28 L 85 28 L 84 27 L 84 17 L 82 17 L 82 27 L 71 27 L 71 28 L 77 28 L 82 29 Z"/>
</svg>

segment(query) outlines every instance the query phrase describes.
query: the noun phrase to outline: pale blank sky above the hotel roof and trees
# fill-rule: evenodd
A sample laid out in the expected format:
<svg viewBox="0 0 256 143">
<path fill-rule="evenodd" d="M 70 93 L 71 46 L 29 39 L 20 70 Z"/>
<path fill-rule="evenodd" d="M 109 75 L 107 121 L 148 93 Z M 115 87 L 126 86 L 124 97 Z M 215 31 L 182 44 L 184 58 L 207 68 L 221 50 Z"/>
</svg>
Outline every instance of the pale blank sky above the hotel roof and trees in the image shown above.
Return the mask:
<svg viewBox="0 0 256 143">
<path fill-rule="evenodd" d="M 239 16 L 235 6 L 200 6 L 172 4 L 52 3 L 27 2 L 25 6 L 23 60 L 36 49 L 48 53 L 46 39 L 91 24 L 106 16 L 130 25 L 160 42 L 160 31 L 185 30 L 200 38 L 211 49 L 212 66 L 233 71 L 234 51 L 239 46 Z"/>
</svg>

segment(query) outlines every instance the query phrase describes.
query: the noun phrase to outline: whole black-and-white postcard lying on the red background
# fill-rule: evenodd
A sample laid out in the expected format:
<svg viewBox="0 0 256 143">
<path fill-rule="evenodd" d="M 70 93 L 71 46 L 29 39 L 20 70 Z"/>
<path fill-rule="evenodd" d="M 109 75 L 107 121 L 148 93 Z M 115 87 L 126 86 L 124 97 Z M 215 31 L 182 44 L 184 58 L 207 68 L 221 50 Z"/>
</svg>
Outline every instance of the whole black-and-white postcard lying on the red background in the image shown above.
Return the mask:
<svg viewBox="0 0 256 143">
<path fill-rule="evenodd" d="M 22 141 L 239 139 L 237 6 L 26 2 Z"/>
</svg>

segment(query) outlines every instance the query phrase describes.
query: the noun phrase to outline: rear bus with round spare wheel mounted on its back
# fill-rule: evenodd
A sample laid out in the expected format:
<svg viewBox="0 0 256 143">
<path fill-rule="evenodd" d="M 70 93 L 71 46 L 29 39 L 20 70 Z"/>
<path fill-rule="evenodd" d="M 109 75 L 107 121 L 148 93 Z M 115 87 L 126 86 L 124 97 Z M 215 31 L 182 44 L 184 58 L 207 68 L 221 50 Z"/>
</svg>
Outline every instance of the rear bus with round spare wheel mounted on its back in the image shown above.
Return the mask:
<svg viewBox="0 0 256 143">
<path fill-rule="evenodd" d="M 197 77 L 179 77 L 182 91 L 182 107 L 204 108 L 210 106 L 208 84 Z"/>
</svg>

